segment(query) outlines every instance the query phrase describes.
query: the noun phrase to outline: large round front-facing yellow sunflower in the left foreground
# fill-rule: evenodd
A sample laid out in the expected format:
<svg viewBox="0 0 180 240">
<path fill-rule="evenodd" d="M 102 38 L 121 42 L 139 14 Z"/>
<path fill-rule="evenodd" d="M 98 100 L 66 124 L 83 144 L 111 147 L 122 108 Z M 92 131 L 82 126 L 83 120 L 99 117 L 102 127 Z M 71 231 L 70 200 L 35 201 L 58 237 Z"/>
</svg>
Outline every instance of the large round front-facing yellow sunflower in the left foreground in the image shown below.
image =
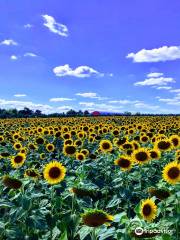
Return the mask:
<svg viewBox="0 0 180 240">
<path fill-rule="evenodd" d="M 49 184 L 57 184 L 61 182 L 66 174 L 66 168 L 57 161 L 52 161 L 44 167 L 44 178 Z"/>
</svg>

